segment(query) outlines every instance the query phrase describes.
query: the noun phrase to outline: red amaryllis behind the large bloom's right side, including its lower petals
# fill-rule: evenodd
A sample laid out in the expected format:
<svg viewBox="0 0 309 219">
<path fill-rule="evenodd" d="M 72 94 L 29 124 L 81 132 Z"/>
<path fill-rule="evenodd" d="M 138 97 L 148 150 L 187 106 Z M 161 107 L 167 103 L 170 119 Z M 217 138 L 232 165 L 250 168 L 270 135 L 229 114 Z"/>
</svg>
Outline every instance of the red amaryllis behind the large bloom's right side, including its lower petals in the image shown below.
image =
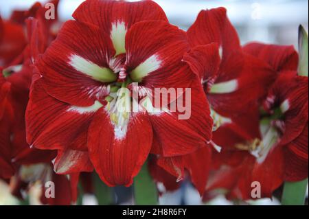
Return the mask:
<svg viewBox="0 0 309 219">
<path fill-rule="evenodd" d="M 225 8 L 201 11 L 187 31 L 187 37 L 192 49 L 183 60 L 203 84 L 214 119 L 213 130 L 231 126 L 238 132 L 247 132 L 246 127 L 238 123 L 239 116 L 266 95 L 265 88 L 275 79 L 275 72 L 264 61 L 242 51 Z M 216 139 L 209 143 L 220 150 Z M 201 148 L 184 157 L 159 158 L 157 164 L 178 178 L 179 172 L 187 170 L 203 194 L 210 153 L 210 148 Z"/>
</svg>

